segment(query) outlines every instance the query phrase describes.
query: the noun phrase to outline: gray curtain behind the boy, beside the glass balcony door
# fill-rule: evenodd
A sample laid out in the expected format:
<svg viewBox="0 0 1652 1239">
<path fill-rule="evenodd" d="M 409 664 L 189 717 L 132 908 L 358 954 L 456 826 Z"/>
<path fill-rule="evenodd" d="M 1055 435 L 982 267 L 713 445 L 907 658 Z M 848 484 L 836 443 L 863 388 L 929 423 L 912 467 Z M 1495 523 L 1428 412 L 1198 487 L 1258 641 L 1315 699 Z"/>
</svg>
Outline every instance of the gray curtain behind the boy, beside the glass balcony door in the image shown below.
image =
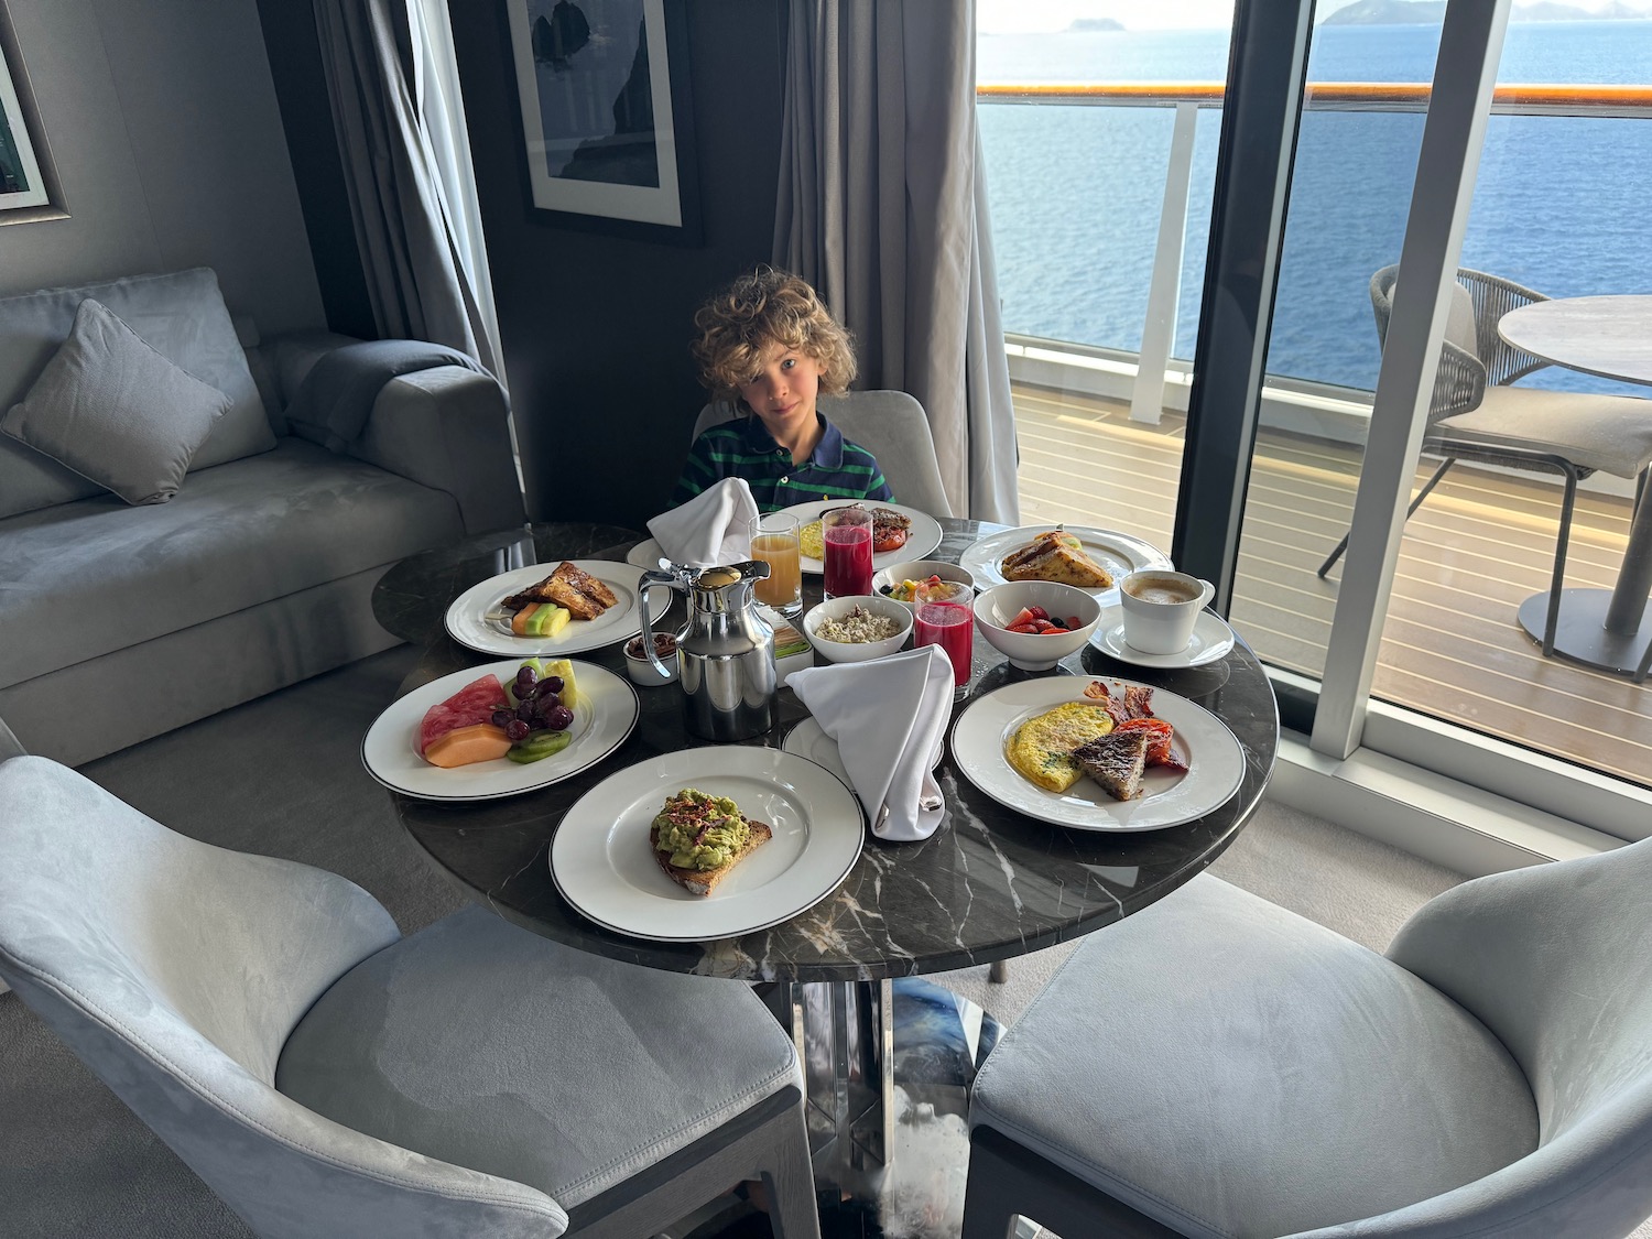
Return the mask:
<svg viewBox="0 0 1652 1239">
<path fill-rule="evenodd" d="M 775 263 L 928 413 L 953 512 L 1019 524 L 975 3 L 791 0 Z"/>
</svg>

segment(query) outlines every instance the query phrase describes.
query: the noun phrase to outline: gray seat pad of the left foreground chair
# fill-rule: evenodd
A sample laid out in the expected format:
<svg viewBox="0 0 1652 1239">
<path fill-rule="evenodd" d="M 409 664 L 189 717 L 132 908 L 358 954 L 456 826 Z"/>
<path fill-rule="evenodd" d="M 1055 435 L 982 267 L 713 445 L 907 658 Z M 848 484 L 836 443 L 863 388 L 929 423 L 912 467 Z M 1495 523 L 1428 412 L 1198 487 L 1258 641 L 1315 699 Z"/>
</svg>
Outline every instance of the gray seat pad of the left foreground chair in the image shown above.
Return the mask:
<svg viewBox="0 0 1652 1239">
<path fill-rule="evenodd" d="M 479 907 L 340 978 L 276 1070 L 317 1113 L 563 1208 L 788 1084 L 791 1041 L 748 986 L 585 955 Z"/>
</svg>

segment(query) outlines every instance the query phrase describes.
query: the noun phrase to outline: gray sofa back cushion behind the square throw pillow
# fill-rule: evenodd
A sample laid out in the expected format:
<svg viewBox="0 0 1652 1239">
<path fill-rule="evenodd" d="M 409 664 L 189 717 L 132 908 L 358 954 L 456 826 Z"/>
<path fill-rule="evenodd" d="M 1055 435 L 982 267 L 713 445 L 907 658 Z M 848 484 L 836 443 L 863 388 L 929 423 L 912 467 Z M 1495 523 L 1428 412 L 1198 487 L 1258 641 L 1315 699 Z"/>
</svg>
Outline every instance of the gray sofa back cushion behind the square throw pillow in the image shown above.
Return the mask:
<svg viewBox="0 0 1652 1239">
<path fill-rule="evenodd" d="M 107 306 L 162 357 L 230 396 L 230 408 L 195 453 L 192 469 L 276 446 L 218 278 L 208 268 L 0 299 L 0 408 L 10 408 L 33 387 L 68 339 L 74 312 L 86 297 Z M 0 517 L 96 492 L 94 482 L 31 448 L 0 438 Z"/>
</svg>

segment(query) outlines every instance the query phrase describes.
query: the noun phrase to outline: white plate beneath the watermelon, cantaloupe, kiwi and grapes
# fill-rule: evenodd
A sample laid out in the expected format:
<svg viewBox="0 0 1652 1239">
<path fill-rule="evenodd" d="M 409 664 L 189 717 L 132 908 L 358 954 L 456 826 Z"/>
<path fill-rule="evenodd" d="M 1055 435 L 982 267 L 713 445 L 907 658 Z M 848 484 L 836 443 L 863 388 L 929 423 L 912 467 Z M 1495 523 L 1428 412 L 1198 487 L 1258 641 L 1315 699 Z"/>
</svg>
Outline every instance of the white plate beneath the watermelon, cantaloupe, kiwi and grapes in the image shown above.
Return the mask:
<svg viewBox="0 0 1652 1239">
<path fill-rule="evenodd" d="M 443 770 L 418 755 L 418 729 L 426 710 L 466 684 L 492 672 L 501 684 L 515 677 L 520 659 L 456 671 L 421 684 L 373 720 L 362 737 L 362 765 L 392 791 L 420 800 L 499 800 L 557 783 L 596 765 L 624 743 L 636 727 L 636 689 L 593 662 L 573 664 L 580 705 L 573 712 L 573 740 L 560 753 L 517 765 L 496 757 Z"/>
</svg>

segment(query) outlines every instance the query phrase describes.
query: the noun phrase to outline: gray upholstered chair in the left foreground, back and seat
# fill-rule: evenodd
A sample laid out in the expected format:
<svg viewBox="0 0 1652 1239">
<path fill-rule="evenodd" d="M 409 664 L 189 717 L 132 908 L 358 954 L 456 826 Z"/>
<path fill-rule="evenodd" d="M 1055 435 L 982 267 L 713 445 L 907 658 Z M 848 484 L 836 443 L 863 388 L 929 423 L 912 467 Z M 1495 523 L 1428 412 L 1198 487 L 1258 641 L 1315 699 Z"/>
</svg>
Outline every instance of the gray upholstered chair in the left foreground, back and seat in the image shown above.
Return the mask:
<svg viewBox="0 0 1652 1239">
<path fill-rule="evenodd" d="M 401 938 L 319 869 L 0 763 L 0 976 L 261 1236 L 646 1236 L 742 1180 L 819 1222 L 791 1041 L 732 981 L 481 907 Z"/>
</svg>

